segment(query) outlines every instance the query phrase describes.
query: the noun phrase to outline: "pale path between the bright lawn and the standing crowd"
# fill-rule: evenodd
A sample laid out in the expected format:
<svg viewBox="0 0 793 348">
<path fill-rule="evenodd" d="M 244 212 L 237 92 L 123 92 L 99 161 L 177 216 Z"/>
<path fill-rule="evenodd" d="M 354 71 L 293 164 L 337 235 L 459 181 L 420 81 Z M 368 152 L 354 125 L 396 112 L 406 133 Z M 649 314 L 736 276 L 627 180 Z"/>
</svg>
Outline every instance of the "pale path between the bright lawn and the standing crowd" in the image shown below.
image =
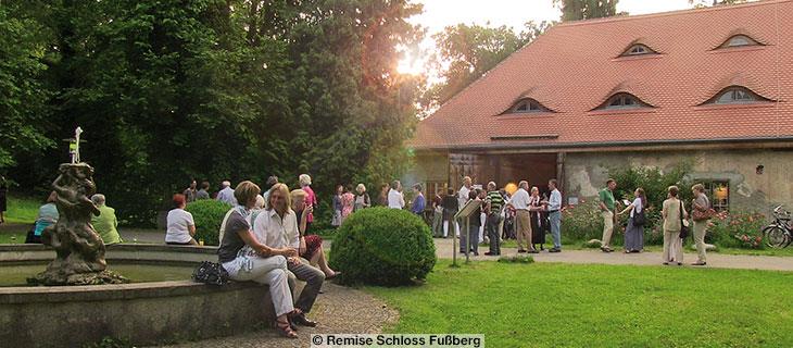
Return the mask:
<svg viewBox="0 0 793 348">
<path fill-rule="evenodd" d="M 435 239 L 436 252 L 438 258 L 452 258 L 452 239 Z M 458 250 L 457 250 L 458 251 Z M 487 246 L 479 246 L 479 256 L 470 254 L 471 260 L 498 260 L 498 257 L 486 257 Z M 517 248 L 502 248 L 502 256 L 518 254 Z M 615 251 L 605 253 L 600 249 L 594 250 L 563 250 L 558 253 L 550 253 L 547 250 L 540 253 L 521 253 L 530 254 L 537 262 L 562 262 L 562 263 L 600 263 L 600 264 L 635 264 L 635 265 L 660 265 L 660 252 L 642 252 L 642 253 L 622 253 Z M 465 261 L 465 254 L 457 253 L 457 261 Z M 696 261 L 696 253 L 685 252 L 683 254 L 684 265 Z M 719 269 L 743 269 L 743 270 L 772 270 L 772 271 L 793 271 L 792 257 L 759 257 L 759 256 L 737 256 L 720 254 L 710 252 L 707 254 L 707 266 Z"/>
</svg>

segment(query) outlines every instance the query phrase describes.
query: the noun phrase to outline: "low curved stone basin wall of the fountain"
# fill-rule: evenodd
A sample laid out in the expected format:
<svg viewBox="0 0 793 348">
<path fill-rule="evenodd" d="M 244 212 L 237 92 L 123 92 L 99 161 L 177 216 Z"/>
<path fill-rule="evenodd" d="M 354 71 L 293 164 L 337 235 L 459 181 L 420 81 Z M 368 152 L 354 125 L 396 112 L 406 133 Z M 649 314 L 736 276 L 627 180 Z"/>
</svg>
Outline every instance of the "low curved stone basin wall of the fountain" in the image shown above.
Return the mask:
<svg viewBox="0 0 793 348">
<path fill-rule="evenodd" d="M 216 261 L 215 248 L 118 245 L 112 262 Z M 0 264 L 40 262 L 54 253 L 37 245 L 0 245 Z M 299 285 L 300 286 L 300 285 Z M 83 347 L 105 337 L 153 345 L 234 335 L 272 323 L 266 286 L 210 286 L 182 282 L 71 287 L 0 288 L 0 341 L 4 347 Z"/>
</svg>

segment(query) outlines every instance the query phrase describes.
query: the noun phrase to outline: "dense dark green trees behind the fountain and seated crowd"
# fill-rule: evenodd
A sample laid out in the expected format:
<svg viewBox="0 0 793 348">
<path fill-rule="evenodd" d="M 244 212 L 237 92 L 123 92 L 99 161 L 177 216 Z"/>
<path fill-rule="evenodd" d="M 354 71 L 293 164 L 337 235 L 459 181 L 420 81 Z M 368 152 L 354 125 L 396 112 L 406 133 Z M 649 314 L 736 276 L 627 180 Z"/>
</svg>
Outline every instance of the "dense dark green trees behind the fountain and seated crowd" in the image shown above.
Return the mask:
<svg viewBox="0 0 793 348">
<path fill-rule="evenodd" d="M 77 125 L 98 189 L 136 225 L 153 224 L 190 178 L 275 174 L 297 186 L 309 173 L 327 197 L 335 183 L 389 182 L 410 165 L 402 145 L 416 122 L 417 82 L 395 72 L 396 47 L 420 40 L 405 21 L 420 5 L 14 3 L 0 13 L 0 26 L 18 34 L 0 38 L 10 40 L 0 42 L 2 83 L 16 88 L 0 95 L 12 116 L 0 129 L 0 169 L 24 188 L 49 185 L 67 160 L 53 140 Z"/>
</svg>

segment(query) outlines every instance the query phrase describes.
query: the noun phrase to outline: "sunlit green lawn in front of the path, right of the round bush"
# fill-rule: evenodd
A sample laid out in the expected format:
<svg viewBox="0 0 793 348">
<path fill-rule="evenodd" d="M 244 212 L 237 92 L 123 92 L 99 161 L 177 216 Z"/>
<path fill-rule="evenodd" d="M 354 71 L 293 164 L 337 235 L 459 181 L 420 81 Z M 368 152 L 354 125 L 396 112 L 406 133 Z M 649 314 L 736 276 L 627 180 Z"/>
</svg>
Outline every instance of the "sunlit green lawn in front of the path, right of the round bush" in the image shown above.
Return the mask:
<svg viewBox="0 0 793 348">
<path fill-rule="evenodd" d="M 366 290 L 400 310 L 388 332 L 488 347 L 793 346 L 793 272 L 442 261 L 424 285 Z"/>
</svg>

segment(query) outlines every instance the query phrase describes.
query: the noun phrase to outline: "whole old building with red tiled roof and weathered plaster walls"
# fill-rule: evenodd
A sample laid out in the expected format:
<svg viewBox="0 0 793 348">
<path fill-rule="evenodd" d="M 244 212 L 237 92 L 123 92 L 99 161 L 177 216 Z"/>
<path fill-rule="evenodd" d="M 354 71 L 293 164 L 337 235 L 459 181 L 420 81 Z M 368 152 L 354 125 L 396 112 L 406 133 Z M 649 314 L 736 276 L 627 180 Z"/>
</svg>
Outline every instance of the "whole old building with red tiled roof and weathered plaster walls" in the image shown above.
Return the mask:
<svg viewBox="0 0 793 348">
<path fill-rule="evenodd" d="M 411 177 L 558 178 L 685 162 L 719 210 L 793 208 L 793 1 L 557 25 L 419 122 Z M 788 20 L 785 20 L 788 18 Z"/>
</svg>

